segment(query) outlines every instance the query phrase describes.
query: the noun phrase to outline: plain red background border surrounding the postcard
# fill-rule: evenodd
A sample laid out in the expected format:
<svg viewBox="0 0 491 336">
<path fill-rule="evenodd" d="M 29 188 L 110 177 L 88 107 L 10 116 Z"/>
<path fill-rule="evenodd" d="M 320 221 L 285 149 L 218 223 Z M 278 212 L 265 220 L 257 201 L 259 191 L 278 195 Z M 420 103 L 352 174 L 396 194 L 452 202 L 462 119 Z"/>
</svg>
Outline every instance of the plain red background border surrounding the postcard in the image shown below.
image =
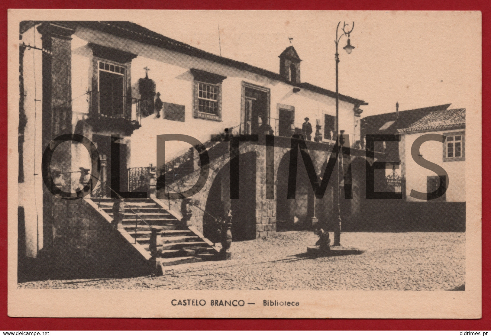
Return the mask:
<svg viewBox="0 0 491 336">
<path fill-rule="evenodd" d="M 298 0 L 29 0 L 0 3 L 3 20 L 0 24 L 0 38 L 4 52 L 1 55 L 2 66 L 0 75 L 3 85 L 0 95 L 0 157 L 4 164 L 0 165 L 0 329 L 1 330 L 296 330 L 296 329 L 328 329 L 328 330 L 490 330 L 490 245 L 491 235 L 483 230 L 483 318 L 479 320 L 409 320 L 409 319 L 102 319 L 102 318 L 11 318 L 7 316 L 7 9 L 8 8 L 93 8 L 93 9 L 297 9 L 297 10 L 481 10 L 483 19 L 483 129 L 489 129 L 490 119 L 486 117 L 490 106 L 490 74 L 491 47 L 489 0 L 413 0 L 394 1 L 382 0 L 377 3 L 367 0 L 338 1 L 298 1 Z M 478 33 L 478 32 L 476 32 Z M 445 43 L 445 41 L 441 41 Z M 489 136 L 483 132 L 483 153 L 490 149 Z M 490 196 L 487 186 L 490 181 L 486 177 L 490 165 L 490 156 L 483 155 L 483 200 Z M 483 207 L 483 227 L 487 228 L 490 212 Z"/>
</svg>

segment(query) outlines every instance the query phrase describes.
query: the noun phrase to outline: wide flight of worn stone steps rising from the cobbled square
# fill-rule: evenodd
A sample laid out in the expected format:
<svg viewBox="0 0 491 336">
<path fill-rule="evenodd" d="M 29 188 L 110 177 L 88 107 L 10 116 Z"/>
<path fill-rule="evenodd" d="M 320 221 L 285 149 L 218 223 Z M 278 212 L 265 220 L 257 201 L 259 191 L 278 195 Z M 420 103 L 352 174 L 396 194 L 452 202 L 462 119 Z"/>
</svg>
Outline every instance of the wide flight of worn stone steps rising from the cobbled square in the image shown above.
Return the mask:
<svg viewBox="0 0 491 336">
<path fill-rule="evenodd" d="M 114 209 L 118 209 L 117 204 L 114 207 L 115 199 L 84 199 L 115 226 L 145 259 L 155 262 L 158 273 L 166 266 L 219 259 L 219 249 L 210 240 L 197 228 L 181 223 L 178 215 L 165 210 L 159 200 L 124 199 L 121 201 L 123 206 L 119 207 L 118 217 L 121 218 L 115 221 Z M 124 209 L 124 213 L 121 209 Z"/>
</svg>

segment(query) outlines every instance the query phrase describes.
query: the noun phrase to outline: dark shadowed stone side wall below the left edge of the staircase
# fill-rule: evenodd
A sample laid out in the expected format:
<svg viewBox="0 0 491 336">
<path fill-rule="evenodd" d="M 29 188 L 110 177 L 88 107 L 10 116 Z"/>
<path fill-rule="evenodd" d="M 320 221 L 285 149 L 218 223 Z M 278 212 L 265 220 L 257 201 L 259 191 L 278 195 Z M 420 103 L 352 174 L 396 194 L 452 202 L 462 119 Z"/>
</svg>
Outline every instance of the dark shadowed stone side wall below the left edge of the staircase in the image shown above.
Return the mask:
<svg viewBox="0 0 491 336">
<path fill-rule="evenodd" d="M 84 199 L 52 202 L 54 244 L 43 272 L 53 279 L 148 274 L 146 259 Z"/>
</svg>

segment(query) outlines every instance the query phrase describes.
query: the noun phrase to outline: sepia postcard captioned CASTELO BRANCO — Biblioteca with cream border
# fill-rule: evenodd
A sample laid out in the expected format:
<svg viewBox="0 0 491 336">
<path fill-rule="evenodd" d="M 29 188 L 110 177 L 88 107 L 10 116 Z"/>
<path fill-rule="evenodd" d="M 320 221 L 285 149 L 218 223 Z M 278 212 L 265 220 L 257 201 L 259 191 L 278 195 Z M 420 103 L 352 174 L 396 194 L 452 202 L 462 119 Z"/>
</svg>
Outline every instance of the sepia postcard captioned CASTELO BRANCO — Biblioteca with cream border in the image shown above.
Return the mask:
<svg viewBox="0 0 491 336">
<path fill-rule="evenodd" d="M 8 13 L 8 314 L 480 318 L 481 13 Z"/>
</svg>

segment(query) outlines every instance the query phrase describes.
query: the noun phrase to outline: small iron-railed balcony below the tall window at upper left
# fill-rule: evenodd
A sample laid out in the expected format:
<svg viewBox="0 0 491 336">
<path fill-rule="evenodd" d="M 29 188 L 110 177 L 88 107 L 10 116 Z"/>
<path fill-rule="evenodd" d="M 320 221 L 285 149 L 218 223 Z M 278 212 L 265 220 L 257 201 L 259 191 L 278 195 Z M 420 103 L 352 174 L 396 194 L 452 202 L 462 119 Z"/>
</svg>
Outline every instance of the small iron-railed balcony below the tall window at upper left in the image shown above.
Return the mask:
<svg viewBox="0 0 491 336">
<path fill-rule="evenodd" d="M 88 92 L 89 117 L 87 122 L 94 132 L 108 132 L 130 136 L 140 128 L 141 100 L 131 96 Z"/>
</svg>

